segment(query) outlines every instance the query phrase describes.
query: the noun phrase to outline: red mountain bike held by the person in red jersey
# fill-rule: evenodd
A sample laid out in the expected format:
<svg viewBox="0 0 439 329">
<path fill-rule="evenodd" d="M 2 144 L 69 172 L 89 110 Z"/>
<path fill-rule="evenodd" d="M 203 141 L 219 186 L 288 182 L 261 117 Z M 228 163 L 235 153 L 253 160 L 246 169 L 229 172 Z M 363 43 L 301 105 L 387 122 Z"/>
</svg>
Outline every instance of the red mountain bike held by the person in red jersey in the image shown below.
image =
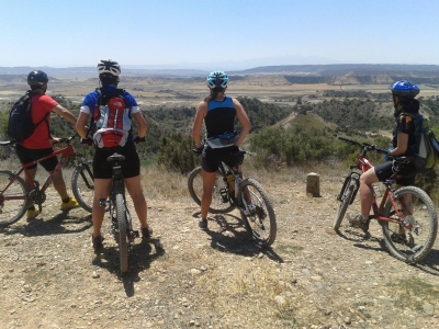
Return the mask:
<svg viewBox="0 0 439 329">
<path fill-rule="evenodd" d="M 74 195 L 86 211 L 91 211 L 92 203 L 83 198 L 82 194 L 79 194 L 78 186 L 89 185 L 90 189 L 93 189 L 93 174 L 86 158 L 77 154 L 70 145 L 75 137 L 76 135 L 59 139 L 59 144 L 67 144 L 67 146 L 38 160 L 21 164 L 15 172 L 0 170 L 0 227 L 5 227 L 18 222 L 24 216 L 31 205 L 37 205 L 41 213 L 43 203 L 46 201 L 45 192 L 47 188 L 50 185 L 54 175 L 63 167 L 66 167 L 69 160 L 72 160 L 76 167 L 71 178 Z M 14 147 L 18 143 L 18 140 L 0 141 L 0 146 Z M 29 168 L 31 166 L 56 156 L 60 156 L 58 164 L 44 184 L 41 186 L 37 181 L 32 181 L 31 186 L 27 186 L 24 179 L 20 175 L 23 173 L 26 178 L 30 178 Z"/>
</svg>

